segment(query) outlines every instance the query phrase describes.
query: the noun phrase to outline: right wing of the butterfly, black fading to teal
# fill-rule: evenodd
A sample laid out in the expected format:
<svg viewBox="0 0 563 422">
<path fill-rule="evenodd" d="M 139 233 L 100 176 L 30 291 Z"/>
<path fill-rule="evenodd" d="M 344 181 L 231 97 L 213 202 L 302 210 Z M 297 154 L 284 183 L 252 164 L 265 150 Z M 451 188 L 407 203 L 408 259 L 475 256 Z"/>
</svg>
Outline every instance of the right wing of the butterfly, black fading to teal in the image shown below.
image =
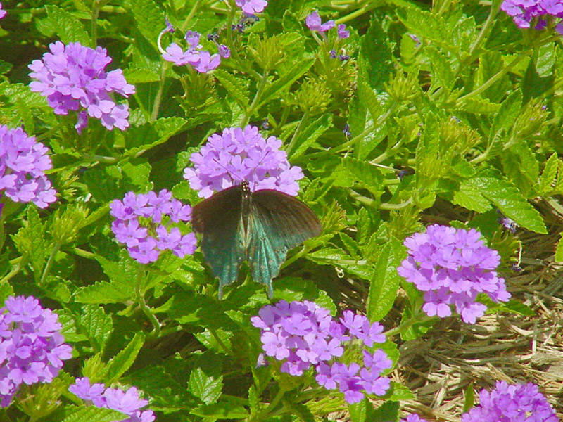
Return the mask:
<svg viewBox="0 0 563 422">
<path fill-rule="evenodd" d="M 264 189 L 252 194 L 248 216 L 246 259 L 254 281 L 265 284 L 272 298 L 272 279 L 287 251 L 322 231 L 310 208 L 293 196 Z"/>
</svg>

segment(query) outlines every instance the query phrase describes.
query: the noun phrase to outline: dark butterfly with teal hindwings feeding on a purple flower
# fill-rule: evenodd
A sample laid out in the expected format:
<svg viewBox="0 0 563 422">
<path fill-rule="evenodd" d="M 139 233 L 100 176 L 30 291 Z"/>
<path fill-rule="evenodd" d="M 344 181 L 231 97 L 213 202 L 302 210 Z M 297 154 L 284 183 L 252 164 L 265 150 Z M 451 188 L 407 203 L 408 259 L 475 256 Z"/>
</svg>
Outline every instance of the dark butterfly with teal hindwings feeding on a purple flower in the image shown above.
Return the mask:
<svg viewBox="0 0 563 422">
<path fill-rule="evenodd" d="M 321 234 L 322 226 L 310 208 L 286 193 L 272 189 L 251 192 L 248 181 L 215 193 L 194 207 L 191 226 L 203 234 L 201 250 L 223 287 L 239 277 L 248 262 L 254 281 L 265 284 L 268 297 L 287 251 Z"/>
</svg>

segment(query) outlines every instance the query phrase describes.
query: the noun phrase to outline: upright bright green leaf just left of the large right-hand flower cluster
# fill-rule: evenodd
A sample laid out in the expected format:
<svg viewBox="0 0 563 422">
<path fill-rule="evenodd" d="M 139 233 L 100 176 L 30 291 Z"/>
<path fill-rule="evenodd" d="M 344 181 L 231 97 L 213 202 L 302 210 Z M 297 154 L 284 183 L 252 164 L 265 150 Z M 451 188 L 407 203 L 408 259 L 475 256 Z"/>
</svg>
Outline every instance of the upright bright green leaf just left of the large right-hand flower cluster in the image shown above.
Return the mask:
<svg viewBox="0 0 563 422">
<path fill-rule="evenodd" d="M 381 320 L 393 307 L 400 284 L 397 267 L 404 257 L 405 249 L 396 238 L 391 237 L 381 248 L 374 278 L 369 283 L 367 317 L 370 321 Z"/>
</svg>

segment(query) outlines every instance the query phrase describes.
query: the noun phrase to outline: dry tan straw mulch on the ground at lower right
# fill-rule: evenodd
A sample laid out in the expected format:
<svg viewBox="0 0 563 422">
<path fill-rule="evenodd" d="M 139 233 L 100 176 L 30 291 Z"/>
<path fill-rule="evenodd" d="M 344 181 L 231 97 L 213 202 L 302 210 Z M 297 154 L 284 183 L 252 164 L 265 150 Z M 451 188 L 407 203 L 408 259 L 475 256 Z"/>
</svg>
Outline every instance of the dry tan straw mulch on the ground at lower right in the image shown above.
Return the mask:
<svg viewBox="0 0 563 422">
<path fill-rule="evenodd" d="M 417 396 L 406 411 L 429 421 L 459 422 L 472 382 L 479 392 L 498 380 L 531 381 L 563 420 L 563 263 L 552 261 L 558 239 L 557 234 L 522 239 L 529 251 L 523 271 L 506 277 L 512 297 L 536 316 L 486 315 L 475 325 L 451 317 L 400 346 L 393 378 Z"/>
</svg>

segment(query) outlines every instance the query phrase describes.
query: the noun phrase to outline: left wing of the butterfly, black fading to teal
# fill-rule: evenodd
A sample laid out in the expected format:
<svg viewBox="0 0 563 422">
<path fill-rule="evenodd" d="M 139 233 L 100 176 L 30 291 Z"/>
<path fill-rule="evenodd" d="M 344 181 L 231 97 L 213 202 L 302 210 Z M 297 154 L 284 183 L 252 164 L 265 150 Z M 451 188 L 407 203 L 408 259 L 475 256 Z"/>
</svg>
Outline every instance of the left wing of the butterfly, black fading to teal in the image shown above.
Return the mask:
<svg viewBox="0 0 563 422">
<path fill-rule="evenodd" d="M 191 226 L 203 234 L 201 250 L 205 261 L 219 279 L 219 298 L 223 286 L 238 278 L 246 256 L 241 202 L 241 186 L 233 186 L 198 203 L 191 212 Z"/>
</svg>

